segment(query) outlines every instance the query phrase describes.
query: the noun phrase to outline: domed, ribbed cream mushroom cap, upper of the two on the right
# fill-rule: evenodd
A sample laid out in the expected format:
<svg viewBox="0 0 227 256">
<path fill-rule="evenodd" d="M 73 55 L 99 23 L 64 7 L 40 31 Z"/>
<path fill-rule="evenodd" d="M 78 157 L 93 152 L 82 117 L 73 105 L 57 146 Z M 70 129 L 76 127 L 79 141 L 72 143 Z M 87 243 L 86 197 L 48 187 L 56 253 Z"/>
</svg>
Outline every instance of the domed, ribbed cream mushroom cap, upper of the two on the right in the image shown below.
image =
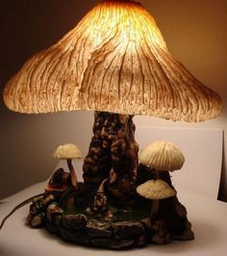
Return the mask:
<svg viewBox="0 0 227 256">
<path fill-rule="evenodd" d="M 174 143 L 154 141 L 140 150 L 139 162 L 158 170 L 174 171 L 182 168 L 185 157 Z"/>
</svg>

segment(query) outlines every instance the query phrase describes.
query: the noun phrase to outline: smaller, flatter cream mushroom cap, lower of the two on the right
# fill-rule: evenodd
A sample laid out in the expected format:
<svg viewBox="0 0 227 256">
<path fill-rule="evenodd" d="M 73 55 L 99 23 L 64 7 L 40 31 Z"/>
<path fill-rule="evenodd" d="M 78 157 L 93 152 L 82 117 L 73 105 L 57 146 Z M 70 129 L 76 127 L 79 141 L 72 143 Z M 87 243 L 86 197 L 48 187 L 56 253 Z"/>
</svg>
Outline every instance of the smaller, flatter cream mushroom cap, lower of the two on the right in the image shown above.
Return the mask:
<svg viewBox="0 0 227 256">
<path fill-rule="evenodd" d="M 137 192 L 146 199 L 160 200 L 176 195 L 176 191 L 171 189 L 163 180 L 149 180 L 139 185 Z"/>
</svg>

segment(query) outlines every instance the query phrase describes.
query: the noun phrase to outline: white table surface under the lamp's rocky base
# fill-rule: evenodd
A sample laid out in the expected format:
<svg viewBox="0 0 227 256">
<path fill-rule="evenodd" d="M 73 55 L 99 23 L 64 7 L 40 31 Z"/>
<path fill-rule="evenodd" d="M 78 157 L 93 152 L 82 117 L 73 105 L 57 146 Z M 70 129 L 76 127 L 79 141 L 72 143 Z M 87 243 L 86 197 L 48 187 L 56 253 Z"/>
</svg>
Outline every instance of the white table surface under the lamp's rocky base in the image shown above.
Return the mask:
<svg viewBox="0 0 227 256">
<path fill-rule="evenodd" d="M 45 182 L 38 183 L 0 203 L 0 219 L 13 207 L 31 195 L 43 191 Z M 189 220 L 195 234 L 190 242 L 173 242 L 167 245 L 150 244 L 144 248 L 107 251 L 63 242 L 45 229 L 32 229 L 26 225 L 29 206 L 19 209 L 9 218 L 0 231 L 0 255 L 199 255 L 223 256 L 227 249 L 227 204 L 207 196 L 181 189 L 178 198 L 187 207 Z"/>
</svg>

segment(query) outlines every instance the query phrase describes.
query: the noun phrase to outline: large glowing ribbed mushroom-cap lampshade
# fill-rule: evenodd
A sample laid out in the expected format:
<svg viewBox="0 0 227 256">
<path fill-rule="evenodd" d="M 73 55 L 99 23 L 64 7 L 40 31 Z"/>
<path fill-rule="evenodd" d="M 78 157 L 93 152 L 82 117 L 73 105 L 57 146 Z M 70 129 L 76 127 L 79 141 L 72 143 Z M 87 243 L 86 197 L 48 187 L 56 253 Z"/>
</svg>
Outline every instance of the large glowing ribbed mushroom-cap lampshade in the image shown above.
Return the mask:
<svg viewBox="0 0 227 256">
<path fill-rule="evenodd" d="M 130 0 L 99 2 L 23 65 L 4 101 L 28 114 L 96 110 L 189 122 L 221 111 L 220 97 L 171 56 L 154 18 Z"/>
</svg>

